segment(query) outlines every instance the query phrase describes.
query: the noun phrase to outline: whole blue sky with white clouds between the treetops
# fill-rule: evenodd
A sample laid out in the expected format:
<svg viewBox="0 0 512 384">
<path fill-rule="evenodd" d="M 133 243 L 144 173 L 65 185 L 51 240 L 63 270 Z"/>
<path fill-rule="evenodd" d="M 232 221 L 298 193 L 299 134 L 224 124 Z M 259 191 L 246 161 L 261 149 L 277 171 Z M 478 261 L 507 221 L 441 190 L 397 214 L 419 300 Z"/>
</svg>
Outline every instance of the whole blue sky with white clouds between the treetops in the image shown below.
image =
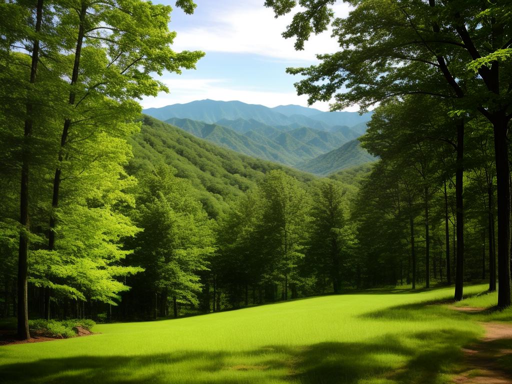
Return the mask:
<svg viewBox="0 0 512 384">
<path fill-rule="evenodd" d="M 305 96 L 297 96 L 293 83 L 297 76 L 285 73 L 287 67 L 308 66 L 316 62 L 316 53 L 336 50 L 329 32 L 313 36 L 304 51 L 293 49 L 294 41 L 281 32 L 290 17 L 275 19 L 263 6 L 265 0 L 196 0 L 193 15 L 174 7 L 173 0 L 155 0 L 173 6 L 169 28 L 177 32 L 173 48 L 206 52 L 195 71 L 161 77 L 169 94 L 146 97 L 144 108 L 160 107 L 194 100 L 240 100 L 251 104 L 276 106 L 307 105 Z M 345 15 L 348 6 L 335 5 L 336 15 Z M 328 103 L 314 108 L 327 111 Z"/>
</svg>

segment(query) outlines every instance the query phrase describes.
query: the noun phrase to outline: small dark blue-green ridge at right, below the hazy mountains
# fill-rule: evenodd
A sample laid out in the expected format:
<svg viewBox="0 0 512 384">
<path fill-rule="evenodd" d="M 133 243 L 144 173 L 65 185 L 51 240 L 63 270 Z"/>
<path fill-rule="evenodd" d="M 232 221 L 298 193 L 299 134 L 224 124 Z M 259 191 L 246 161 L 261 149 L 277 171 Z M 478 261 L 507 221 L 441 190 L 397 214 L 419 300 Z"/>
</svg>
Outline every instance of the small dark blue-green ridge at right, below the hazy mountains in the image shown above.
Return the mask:
<svg viewBox="0 0 512 384">
<path fill-rule="evenodd" d="M 327 176 L 338 170 L 375 161 L 358 140 L 349 141 L 334 151 L 298 164 L 297 168 L 315 175 Z"/>
</svg>

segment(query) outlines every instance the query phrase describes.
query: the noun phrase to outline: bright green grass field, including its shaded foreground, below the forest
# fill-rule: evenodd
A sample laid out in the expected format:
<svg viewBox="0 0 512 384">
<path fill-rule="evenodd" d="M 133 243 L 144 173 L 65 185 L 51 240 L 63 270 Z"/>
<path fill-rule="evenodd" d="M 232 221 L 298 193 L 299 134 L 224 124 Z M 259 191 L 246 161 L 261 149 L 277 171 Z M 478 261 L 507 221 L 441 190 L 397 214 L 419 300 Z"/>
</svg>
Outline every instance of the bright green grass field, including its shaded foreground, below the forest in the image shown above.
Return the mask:
<svg viewBox="0 0 512 384">
<path fill-rule="evenodd" d="M 450 382 L 464 368 L 461 347 L 483 334 L 478 321 L 512 320 L 510 310 L 474 314 L 432 305 L 452 293 L 375 291 L 97 325 L 101 334 L 94 336 L 0 347 L 0 382 Z M 469 301 L 495 300 L 494 294 Z"/>
</svg>

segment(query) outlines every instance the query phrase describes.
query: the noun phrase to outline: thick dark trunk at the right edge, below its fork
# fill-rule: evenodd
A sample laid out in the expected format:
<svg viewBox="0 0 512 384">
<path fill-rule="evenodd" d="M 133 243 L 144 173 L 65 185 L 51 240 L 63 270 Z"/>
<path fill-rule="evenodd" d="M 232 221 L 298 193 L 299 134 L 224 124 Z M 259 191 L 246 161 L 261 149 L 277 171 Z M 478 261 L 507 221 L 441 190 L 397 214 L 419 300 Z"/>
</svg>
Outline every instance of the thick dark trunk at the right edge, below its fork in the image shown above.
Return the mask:
<svg viewBox="0 0 512 384">
<path fill-rule="evenodd" d="M 510 285 L 510 165 L 508 163 L 508 121 L 497 116 L 494 126 L 496 186 L 498 198 L 498 308 L 511 303 Z"/>
</svg>

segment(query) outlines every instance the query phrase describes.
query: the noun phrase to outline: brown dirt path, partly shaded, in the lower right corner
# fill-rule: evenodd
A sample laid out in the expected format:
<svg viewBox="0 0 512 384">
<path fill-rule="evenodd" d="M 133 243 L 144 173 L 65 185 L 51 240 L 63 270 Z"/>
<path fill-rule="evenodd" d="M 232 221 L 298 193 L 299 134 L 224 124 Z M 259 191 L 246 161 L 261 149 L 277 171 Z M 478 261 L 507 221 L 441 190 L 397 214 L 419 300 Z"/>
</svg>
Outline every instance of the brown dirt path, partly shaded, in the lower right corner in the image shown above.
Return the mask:
<svg viewBox="0 0 512 384">
<path fill-rule="evenodd" d="M 512 372 L 504 370 L 496 359 L 512 350 L 503 349 L 504 342 L 512 345 L 512 325 L 503 323 L 481 323 L 485 328 L 485 336 L 480 342 L 464 348 L 469 369 L 457 376 L 458 384 L 512 384 Z"/>
</svg>

